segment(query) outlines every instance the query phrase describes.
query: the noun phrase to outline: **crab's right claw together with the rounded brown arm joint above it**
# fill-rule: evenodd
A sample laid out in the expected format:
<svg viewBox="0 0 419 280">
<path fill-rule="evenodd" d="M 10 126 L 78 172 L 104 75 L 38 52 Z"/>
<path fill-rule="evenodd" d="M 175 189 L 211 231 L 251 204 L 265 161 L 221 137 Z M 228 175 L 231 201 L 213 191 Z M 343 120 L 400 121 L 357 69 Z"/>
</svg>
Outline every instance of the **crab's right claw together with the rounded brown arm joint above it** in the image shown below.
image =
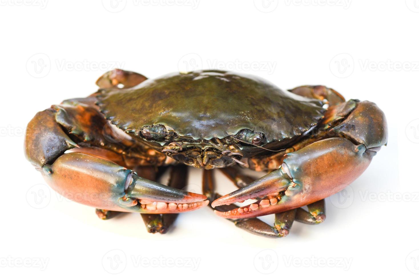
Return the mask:
<svg viewBox="0 0 419 280">
<path fill-rule="evenodd" d="M 335 136 L 287 154 L 282 166 L 246 187 L 212 202 L 230 204 L 266 196 L 228 212 L 224 218 L 251 218 L 280 213 L 314 203 L 344 189 L 362 174 L 381 145 L 387 143 L 383 112 L 371 102 L 360 102 L 344 122 L 330 130 Z"/>
</svg>

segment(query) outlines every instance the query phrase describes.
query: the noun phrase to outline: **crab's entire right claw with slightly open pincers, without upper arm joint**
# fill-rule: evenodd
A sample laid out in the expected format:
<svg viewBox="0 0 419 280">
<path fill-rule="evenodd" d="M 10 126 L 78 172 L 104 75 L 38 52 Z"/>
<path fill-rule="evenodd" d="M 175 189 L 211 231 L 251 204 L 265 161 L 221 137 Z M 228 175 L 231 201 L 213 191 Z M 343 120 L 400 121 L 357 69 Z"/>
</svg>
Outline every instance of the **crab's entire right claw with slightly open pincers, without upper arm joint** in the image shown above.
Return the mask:
<svg viewBox="0 0 419 280">
<path fill-rule="evenodd" d="M 329 138 L 288 153 L 282 166 L 270 174 L 212 202 L 212 207 L 263 197 L 251 205 L 227 212 L 223 218 L 253 218 L 281 213 L 322 200 L 347 187 L 365 171 L 375 155 L 345 138 Z"/>
</svg>

